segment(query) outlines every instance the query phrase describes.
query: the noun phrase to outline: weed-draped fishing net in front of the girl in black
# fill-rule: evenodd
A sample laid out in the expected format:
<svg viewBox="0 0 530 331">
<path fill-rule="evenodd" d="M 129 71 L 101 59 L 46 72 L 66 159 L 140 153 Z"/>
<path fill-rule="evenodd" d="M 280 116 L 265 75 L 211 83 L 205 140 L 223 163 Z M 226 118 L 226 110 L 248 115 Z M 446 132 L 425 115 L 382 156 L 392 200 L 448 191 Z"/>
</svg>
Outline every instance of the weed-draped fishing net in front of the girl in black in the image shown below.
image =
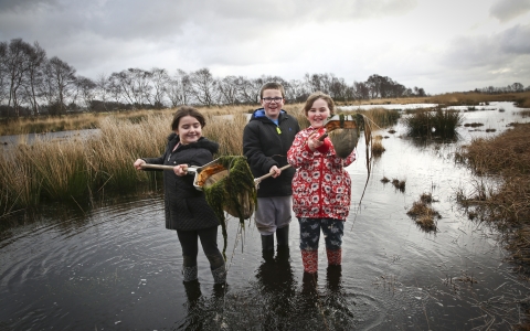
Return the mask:
<svg viewBox="0 0 530 331">
<path fill-rule="evenodd" d="M 245 157 L 221 157 L 218 159 L 218 164 L 223 168 L 203 178 L 202 190 L 208 204 L 221 221 L 224 239 L 223 256 L 226 258 L 227 234 L 224 212 L 237 217 L 241 223 L 250 218 L 256 210 L 257 189 Z"/>
</svg>

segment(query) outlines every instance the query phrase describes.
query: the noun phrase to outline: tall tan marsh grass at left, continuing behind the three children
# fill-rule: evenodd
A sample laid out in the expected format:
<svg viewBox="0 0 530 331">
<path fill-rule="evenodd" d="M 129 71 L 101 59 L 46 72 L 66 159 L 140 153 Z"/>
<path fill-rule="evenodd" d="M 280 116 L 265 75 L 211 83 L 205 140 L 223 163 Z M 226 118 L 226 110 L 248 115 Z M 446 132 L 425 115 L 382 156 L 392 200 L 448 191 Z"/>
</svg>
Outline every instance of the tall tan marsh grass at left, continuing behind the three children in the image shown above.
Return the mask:
<svg viewBox="0 0 530 331">
<path fill-rule="evenodd" d="M 301 105 L 286 106 L 301 127 L 308 126 Z M 252 110 L 240 108 L 233 114 L 222 114 L 230 116 L 215 116 L 219 111 L 215 109 L 203 111 L 206 117 L 203 136 L 221 146 L 215 158 L 243 153 L 243 129 Z M 4 149 L 0 156 L 0 217 L 47 201 L 78 203 L 102 192 L 121 194 L 139 183 L 152 183 L 157 180 L 155 172 L 136 171 L 132 163 L 138 158 L 163 152 L 171 134 L 172 114 L 105 116 L 98 122 L 99 134 L 89 138 L 76 136 L 54 141 L 38 137 L 31 145 L 21 140 Z M 372 118 L 378 120 L 378 116 Z"/>
</svg>

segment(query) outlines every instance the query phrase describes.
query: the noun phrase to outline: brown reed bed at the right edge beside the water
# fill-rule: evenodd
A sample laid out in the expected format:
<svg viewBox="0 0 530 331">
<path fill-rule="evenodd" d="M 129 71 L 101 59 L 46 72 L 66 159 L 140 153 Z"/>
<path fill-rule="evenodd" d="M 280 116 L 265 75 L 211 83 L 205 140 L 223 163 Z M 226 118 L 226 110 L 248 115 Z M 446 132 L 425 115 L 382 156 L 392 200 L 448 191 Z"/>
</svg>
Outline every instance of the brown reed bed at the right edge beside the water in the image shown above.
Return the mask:
<svg viewBox="0 0 530 331">
<path fill-rule="evenodd" d="M 501 229 L 510 259 L 530 274 L 530 124 L 476 139 L 459 154 L 479 180 L 473 192 L 457 192 L 457 201 L 473 217 Z M 487 185 L 483 177 L 499 183 Z"/>
</svg>

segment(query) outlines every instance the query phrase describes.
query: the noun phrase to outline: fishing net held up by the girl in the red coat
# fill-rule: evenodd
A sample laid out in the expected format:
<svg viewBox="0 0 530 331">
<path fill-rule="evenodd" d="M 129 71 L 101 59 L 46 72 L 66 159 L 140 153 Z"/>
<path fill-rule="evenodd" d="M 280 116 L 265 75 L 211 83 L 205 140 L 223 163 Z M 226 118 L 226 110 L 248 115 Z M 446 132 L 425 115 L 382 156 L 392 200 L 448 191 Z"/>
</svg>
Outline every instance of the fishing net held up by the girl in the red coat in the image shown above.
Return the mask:
<svg viewBox="0 0 530 331">
<path fill-rule="evenodd" d="M 333 143 L 335 152 L 341 159 L 346 159 L 357 147 L 362 115 L 339 114 L 326 122 L 328 137 Z"/>
</svg>

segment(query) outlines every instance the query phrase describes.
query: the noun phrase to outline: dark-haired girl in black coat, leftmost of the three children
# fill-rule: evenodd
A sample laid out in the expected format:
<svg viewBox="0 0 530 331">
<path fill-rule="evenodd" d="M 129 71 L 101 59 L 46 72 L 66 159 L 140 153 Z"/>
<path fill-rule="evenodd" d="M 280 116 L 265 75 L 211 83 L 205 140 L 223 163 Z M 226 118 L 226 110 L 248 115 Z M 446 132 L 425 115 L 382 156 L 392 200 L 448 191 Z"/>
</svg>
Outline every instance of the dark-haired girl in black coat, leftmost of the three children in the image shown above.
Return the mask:
<svg viewBox="0 0 530 331">
<path fill-rule="evenodd" d="M 218 248 L 220 222 L 206 203 L 204 193 L 193 186 L 193 177 L 188 167 L 203 166 L 213 160 L 219 143 L 202 137 L 204 117 L 197 109 L 183 106 L 174 114 L 166 152 L 159 158 L 135 161 L 135 168 L 145 163 L 174 166 L 173 171 L 163 172 L 166 228 L 176 229 L 182 246 L 184 282 L 197 280 L 198 239 L 210 261 L 215 284 L 224 284 L 226 270 L 223 256 Z"/>
</svg>

